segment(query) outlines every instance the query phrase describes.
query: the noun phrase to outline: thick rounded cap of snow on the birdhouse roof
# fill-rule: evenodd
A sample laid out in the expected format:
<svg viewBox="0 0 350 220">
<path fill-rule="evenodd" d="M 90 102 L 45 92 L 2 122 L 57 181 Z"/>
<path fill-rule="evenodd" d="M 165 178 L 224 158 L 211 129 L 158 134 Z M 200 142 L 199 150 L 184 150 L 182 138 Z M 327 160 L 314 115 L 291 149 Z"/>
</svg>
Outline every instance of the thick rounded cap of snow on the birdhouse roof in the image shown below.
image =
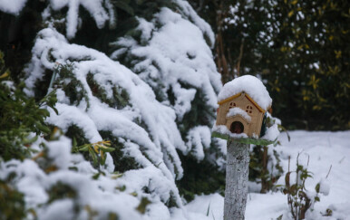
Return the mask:
<svg viewBox="0 0 350 220">
<path fill-rule="evenodd" d="M 226 100 L 242 91 L 255 100 L 263 110 L 268 110 L 272 104 L 267 88 L 262 81 L 252 75 L 244 75 L 228 81 L 219 92 L 218 101 Z"/>
</svg>

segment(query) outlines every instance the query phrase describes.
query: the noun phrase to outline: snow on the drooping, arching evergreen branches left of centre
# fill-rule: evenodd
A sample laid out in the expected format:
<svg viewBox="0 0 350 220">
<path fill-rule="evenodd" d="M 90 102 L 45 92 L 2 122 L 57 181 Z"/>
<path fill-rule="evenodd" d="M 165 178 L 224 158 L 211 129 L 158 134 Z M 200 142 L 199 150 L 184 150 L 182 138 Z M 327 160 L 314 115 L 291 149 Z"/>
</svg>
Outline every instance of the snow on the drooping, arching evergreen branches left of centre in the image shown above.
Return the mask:
<svg viewBox="0 0 350 220">
<path fill-rule="evenodd" d="M 85 138 L 93 143 L 102 140 L 100 130 L 111 130 L 112 135 L 123 143 L 123 151 L 130 155 L 142 167 L 127 171 L 120 182 L 130 186 L 130 192 L 142 193 L 144 187 L 151 190 L 152 202 L 165 204 L 172 196 L 177 206 L 181 208 L 179 191 L 175 186 L 175 178 L 182 176 L 182 167 L 176 148 L 186 151 L 180 131 L 175 123 L 174 110 L 166 107 L 157 100 L 151 88 L 130 70 L 119 62 L 113 62 L 103 53 L 86 47 L 67 43 L 64 36 L 53 28 L 46 28 L 38 33 L 33 48 L 34 56 L 28 65 L 26 79 L 27 92 L 33 90 L 35 81 L 40 81 L 44 70 L 53 70 L 55 63 L 64 63 L 71 59 L 73 74 L 83 85 L 86 97 L 77 106 L 70 103 L 61 88 L 57 89 L 59 103 L 56 115 L 50 110 L 48 122 L 66 131 L 75 125 L 83 130 Z M 53 60 L 48 60 L 48 53 Z M 93 80 L 104 85 L 107 97 L 112 98 L 113 87 L 118 86 L 129 94 L 130 103 L 123 108 L 111 108 L 92 94 L 92 88 L 86 81 L 86 75 L 93 75 Z M 69 83 L 58 75 L 58 83 Z M 139 122 L 138 122 L 139 121 Z M 140 126 L 140 121 L 147 125 L 147 131 Z M 203 136 L 205 129 L 193 130 Z M 203 133 L 204 132 L 204 133 Z M 201 138 L 202 148 L 209 146 L 208 139 Z M 89 169 L 86 169 L 89 170 Z M 124 178 L 141 177 L 144 181 L 124 181 Z M 129 178 L 128 178 L 129 179 Z M 164 205 L 162 205 L 164 206 Z"/>
</svg>

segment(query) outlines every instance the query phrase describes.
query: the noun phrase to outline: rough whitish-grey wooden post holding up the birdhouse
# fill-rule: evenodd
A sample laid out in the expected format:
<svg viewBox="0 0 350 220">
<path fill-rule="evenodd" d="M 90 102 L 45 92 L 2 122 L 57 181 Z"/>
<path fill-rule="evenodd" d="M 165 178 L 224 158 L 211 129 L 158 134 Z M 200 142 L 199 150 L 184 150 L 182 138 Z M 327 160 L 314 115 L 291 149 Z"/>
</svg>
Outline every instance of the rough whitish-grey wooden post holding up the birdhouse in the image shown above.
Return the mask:
<svg viewBox="0 0 350 220">
<path fill-rule="evenodd" d="M 244 220 L 248 196 L 249 144 L 228 141 L 224 220 Z"/>
</svg>

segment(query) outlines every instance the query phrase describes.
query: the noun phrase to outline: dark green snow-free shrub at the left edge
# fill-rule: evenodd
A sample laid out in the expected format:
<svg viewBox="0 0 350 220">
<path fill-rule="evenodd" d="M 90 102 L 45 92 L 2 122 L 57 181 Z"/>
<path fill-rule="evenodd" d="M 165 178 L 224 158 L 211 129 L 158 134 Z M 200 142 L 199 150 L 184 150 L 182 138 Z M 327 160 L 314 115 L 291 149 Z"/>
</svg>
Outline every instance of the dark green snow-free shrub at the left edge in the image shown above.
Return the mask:
<svg viewBox="0 0 350 220">
<path fill-rule="evenodd" d="M 4 54 L 0 52 L 0 158 L 24 159 L 39 134 L 50 133 L 44 120 L 49 116 L 46 106 L 53 108 L 54 91 L 35 101 L 24 93 L 24 82 L 15 84 L 5 68 Z"/>
</svg>

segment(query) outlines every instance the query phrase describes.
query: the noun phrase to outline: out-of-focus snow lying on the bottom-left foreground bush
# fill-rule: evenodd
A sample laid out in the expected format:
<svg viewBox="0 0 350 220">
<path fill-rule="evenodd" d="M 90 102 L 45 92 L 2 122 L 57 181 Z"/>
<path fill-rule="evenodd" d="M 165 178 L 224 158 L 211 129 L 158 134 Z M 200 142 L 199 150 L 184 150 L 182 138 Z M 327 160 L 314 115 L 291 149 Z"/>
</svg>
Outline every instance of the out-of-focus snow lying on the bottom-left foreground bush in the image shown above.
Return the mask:
<svg viewBox="0 0 350 220">
<path fill-rule="evenodd" d="M 119 186 L 118 181 L 108 172 L 105 176 L 92 180 L 92 175 L 97 173 L 97 170 L 92 168 L 90 163 L 84 163 L 87 161 L 81 155 L 71 154 L 71 141 L 61 137 L 50 142 L 40 139 L 39 142 L 48 146 L 48 158 L 44 156 L 38 159 L 27 158 L 23 162 L 0 162 L 0 178 L 5 179 L 12 173 L 16 174 L 12 186 L 24 193 L 27 208 L 34 208 L 38 219 L 87 219 L 87 206 L 95 211 L 95 217 L 98 219 L 106 218 L 111 212 L 116 213 L 119 219 L 151 219 L 135 210 L 140 203 L 137 196 L 115 189 Z M 60 163 L 63 162 L 68 163 L 62 166 Z M 68 169 L 77 163 L 80 166 L 77 171 Z M 44 172 L 44 167 L 40 167 L 43 165 L 56 165 L 58 169 Z M 83 172 L 80 171 L 81 167 L 84 167 Z M 48 202 L 52 187 L 58 184 L 73 188 L 76 196 L 71 198 L 62 195 L 63 198 Z M 161 203 L 155 202 L 154 205 L 161 206 Z"/>
</svg>

